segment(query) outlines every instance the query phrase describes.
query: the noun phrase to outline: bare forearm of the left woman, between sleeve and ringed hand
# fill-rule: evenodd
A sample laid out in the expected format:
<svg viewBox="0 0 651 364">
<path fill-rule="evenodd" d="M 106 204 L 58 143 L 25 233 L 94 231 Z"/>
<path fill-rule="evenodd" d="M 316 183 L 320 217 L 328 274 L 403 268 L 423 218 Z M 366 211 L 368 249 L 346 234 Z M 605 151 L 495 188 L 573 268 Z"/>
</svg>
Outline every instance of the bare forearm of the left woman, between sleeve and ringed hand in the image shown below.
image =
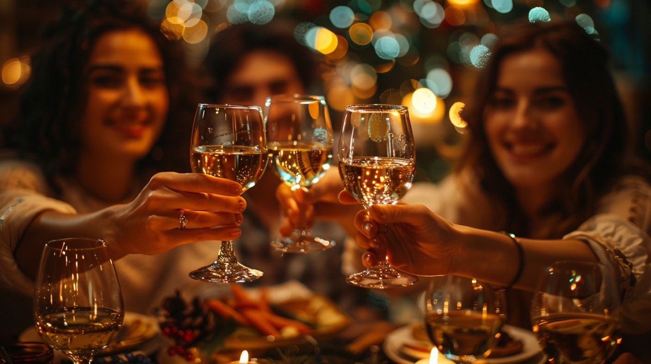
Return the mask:
<svg viewBox="0 0 651 364">
<path fill-rule="evenodd" d="M 49 240 L 69 237 L 106 239 L 111 211 L 104 209 L 90 214 L 66 214 L 44 211 L 25 229 L 14 252 L 16 263 L 30 278 L 36 277 L 43 246 Z M 108 244 L 113 259 L 124 255 L 115 244 Z"/>
</svg>

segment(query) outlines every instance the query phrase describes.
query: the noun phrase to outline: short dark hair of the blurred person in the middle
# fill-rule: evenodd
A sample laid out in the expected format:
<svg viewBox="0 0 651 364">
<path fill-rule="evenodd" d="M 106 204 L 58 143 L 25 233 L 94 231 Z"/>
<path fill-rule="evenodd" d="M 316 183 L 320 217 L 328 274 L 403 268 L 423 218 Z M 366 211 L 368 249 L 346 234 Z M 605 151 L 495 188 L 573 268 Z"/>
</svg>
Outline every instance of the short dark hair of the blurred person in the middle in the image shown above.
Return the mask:
<svg viewBox="0 0 651 364">
<path fill-rule="evenodd" d="M 305 90 L 317 79 L 319 66 L 316 55 L 294 38 L 294 29 L 286 19 L 274 19 L 264 25 L 244 23 L 231 25 L 215 34 L 201 71 L 210 83 L 204 86 L 208 101 L 219 101 L 231 73 L 242 59 L 256 50 L 273 51 L 288 57 Z"/>
</svg>

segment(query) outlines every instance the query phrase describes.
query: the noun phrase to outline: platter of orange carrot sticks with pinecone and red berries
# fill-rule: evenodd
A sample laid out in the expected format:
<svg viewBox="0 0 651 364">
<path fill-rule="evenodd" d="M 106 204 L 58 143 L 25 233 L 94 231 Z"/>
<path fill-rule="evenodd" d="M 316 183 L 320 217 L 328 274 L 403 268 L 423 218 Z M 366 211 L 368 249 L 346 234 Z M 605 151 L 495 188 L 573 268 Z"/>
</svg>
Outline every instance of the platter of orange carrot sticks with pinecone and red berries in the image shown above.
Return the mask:
<svg viewBox="0 0 651 364">
<path fill-rule="evenodd" d="M 247 291 L 232 284 L 229 292 L 216 296 L 166 298 L 159 326 L 169 345 L 159 362 L 176 356 L 239 355 L 242 350 L 262 353 L 328 337 L 350 324 L 350 317 L 326 296 L 290 286 Z"/>
</svg>

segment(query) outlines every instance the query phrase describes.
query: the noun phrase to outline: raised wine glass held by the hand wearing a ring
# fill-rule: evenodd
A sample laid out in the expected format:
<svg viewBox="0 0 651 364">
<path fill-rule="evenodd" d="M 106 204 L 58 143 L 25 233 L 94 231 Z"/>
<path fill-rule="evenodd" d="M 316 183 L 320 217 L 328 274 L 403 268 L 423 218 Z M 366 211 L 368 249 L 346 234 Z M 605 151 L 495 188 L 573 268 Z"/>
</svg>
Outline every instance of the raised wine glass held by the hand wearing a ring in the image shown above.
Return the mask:
<svg viewBox="0 0 651 364">
<path fill-rule="evenodd" d="M 260 107 L 197 106 L 190 142 L 193 172 L 236 181 L 244 192 L 262 177 L 267 154 Z M 262 274 L 238 262 L 229 240 L 221 242 L 217 260 L 190 272 L 190 277 L 210 282 L 249 282 Z"/>
</svg>

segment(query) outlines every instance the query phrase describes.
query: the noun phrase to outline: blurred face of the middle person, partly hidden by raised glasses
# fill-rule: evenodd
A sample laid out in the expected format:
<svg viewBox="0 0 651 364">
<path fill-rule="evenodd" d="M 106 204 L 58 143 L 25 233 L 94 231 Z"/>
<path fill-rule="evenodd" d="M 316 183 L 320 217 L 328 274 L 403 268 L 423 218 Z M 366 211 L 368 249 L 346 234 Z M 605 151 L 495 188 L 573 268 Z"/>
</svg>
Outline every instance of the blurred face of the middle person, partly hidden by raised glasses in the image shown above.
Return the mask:
<svg viewBox="0 0 651 364">
<path fill-rule="evenodd" d="M 266 49 L 252 51 L 243 57 L 226 85 L 223 100 L 219 102 L 258 105 L 262 109 L 269 96 L 305 92 L 292 61 L 282 53 Z"/>
</svg>

